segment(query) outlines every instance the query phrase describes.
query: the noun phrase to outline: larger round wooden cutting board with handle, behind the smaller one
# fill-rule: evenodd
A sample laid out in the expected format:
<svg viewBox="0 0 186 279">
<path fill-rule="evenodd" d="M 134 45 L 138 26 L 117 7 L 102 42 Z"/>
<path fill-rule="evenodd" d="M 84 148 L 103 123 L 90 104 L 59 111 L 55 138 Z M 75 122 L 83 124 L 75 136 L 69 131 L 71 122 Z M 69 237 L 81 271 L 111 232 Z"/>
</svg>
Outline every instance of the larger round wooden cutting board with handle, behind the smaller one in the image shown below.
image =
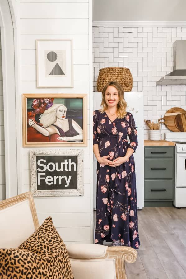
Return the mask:
<svg viewBox="0 0 186 279">
<path fill-rule="evenodd" d="M 176 118 L 177 114 L 182 113 L 182 112 L 184 113 L 186 111 L 182 108 L 174 107 L 174 108 L 167 110 L 164 117 L 160 118 L 158 120 L 164 120 L 164 122 L 160 121 L 160 123 L 165 124 L 170 131 L 181 132 L 175 125 L 175 118 Z"/>
</svg>

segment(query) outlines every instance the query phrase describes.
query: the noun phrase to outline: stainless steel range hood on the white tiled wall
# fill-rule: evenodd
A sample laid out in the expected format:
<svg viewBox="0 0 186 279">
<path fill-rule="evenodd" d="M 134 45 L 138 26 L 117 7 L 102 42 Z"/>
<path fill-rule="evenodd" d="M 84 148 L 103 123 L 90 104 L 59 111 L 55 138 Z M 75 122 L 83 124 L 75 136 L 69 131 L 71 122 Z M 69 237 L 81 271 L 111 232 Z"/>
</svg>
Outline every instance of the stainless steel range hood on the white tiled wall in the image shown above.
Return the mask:
<svg viewBox="0 0 186 279">
<path fill-rule="evenodd" d="M 173 44 L 173 72 L 156 81 L 156 85 L 186 85 L 186 40 Z"/>
</svg>

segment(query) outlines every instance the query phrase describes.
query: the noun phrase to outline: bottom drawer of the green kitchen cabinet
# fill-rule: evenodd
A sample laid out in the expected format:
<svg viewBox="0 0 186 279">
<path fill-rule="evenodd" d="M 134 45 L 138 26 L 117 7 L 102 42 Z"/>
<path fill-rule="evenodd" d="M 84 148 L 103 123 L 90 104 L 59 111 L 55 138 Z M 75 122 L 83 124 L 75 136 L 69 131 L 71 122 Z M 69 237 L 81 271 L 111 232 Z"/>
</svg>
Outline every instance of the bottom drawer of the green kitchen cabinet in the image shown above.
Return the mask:
<svg viewBox="0 0 186 279">
<path fill-rule="evenodd" d="M 173 180 L 145 180 L 145 200 L 174 200 Z"/>
</svg>

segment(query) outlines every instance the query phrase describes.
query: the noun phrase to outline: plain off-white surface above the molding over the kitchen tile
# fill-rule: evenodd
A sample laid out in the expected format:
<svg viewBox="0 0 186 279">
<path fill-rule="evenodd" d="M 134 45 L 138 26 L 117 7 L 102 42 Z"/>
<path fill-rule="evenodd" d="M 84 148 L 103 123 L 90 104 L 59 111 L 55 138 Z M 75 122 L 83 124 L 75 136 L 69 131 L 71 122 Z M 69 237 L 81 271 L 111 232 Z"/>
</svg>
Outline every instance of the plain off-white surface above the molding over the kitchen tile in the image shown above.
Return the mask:
<svg viewBox="0 0 186 279">
<path fill-rule="evenodd" d="M 185 0 L 94 0 L 96 21 L 184 21 Z"/>
</svg>

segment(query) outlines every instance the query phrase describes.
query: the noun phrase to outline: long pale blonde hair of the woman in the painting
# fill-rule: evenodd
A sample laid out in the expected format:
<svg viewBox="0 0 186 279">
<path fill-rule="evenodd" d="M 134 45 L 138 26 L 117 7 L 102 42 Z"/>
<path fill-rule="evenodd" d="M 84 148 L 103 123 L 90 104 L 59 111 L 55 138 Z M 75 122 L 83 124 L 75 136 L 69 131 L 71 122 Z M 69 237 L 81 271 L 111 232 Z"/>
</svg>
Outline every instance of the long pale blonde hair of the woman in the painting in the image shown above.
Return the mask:
<svg viewBox="0 0 186 279">
<path fill-rule="evenodd" d="M 67 109 L 66 106 L 63 104 L 53 104 L 49 109 L 44 111 L 44 113 L 40 117 L 40 123 L 43 125 L 44 128 L 49 127 L 56 122 L 56 111 L 61 106 Z"/>
</svg>

